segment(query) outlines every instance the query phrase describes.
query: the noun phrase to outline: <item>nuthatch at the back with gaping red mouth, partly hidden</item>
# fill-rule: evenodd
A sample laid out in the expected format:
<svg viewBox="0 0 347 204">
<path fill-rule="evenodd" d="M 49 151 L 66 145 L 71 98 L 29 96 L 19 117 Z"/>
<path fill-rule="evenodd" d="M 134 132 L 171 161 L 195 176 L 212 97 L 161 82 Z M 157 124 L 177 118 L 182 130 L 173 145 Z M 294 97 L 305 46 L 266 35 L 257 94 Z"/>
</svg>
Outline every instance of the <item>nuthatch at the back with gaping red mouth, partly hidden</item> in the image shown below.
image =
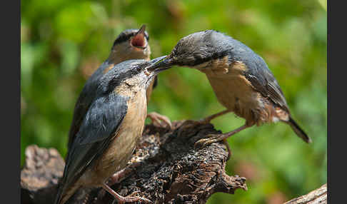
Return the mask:
<svg viewBox="0 0 347 204">
<path fill-rule="evenodd" d="M 77 99 L 74 108 L 74 117 L 71 122 L 71 128 L 69 131 L 69 143 L 68 148 L 70 148 L 71 143 L 73 143 L 76 133 L 79 131 L 81 122 L 86 115 L 86 112 L 91 105 L 93 97 L 96 95 L 96 89 L 99 86 L 100 78 L 104 76 L 111 68 L 122 61 L 129 59 L 145 59 L 149 61 L 149 56 L 151 55 L 151 49 L 149 47 L 149 34 L 145 31 L 146 26 L 141 26 L 141 29 L 128 29 L 116 38 L 114 45 L 111 48 L 111 53 L 109 58 L 101 64 L 101 66 L 91 75 L 91 77 L 86 81 L 84 88 L 82 89 L 79 98 Z M 156 86 L 157 76 L 154 81 L 151 82 L 146 91 L 147 103 L 151 96 L 153 88 Z M 169 118 L 161 116 L 158 113 L 149 113 L 153 121 L 159 123 L 159 119 L 171 126 Z"/>
</svg>

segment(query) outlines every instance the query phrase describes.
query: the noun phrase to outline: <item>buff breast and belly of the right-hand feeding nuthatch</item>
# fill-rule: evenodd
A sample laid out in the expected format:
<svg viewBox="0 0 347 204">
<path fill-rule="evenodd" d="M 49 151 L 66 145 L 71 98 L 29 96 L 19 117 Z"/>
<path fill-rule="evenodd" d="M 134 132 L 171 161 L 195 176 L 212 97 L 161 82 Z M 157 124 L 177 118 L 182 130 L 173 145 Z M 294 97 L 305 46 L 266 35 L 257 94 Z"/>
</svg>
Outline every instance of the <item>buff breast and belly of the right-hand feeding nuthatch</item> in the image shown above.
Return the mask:
<svg viewBox="0 0 347 204">
<path fill-rule="evenodd" d="M 228 57 L 206 63 L 198 70 L 206 73 L 218 101 L 245 118 L 246 121 L 258 123 L 255 113 L 263 110 L 263 98 L 255 91 L 252 84 L 244 76 L 247 67 L 241 61 L 228 61 Z"/>
</svg>

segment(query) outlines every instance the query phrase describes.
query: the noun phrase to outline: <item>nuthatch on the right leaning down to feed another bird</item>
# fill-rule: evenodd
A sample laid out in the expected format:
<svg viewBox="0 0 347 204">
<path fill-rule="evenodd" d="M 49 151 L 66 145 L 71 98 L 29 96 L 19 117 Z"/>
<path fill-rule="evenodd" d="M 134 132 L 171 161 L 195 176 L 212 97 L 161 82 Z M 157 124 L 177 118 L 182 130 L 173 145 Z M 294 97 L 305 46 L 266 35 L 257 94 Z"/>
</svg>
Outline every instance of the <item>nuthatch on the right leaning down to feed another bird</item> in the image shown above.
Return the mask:
<svg viewBox="0 0 347 204">
<path fill-rule="evenodd" d="M 197 142 L 199 145 L 225 141 L 250 126 L 277 121 L 287 123 L 297 136 L 311 143 L 311 139 L 293 120 L 281 87 L 263 58 L 240 41 L 218 31 L 197 32 L 183 37 L 169 56 L 149 67 L 149 70 L 175 65 L 206 73 L 218 101 L 226 107 L 225 111 L 204 118 L 200 123 L 209 123 L 228 112 L 246 119 L 245 125 L 240 128 L 201 139 Z"/>
</svg>

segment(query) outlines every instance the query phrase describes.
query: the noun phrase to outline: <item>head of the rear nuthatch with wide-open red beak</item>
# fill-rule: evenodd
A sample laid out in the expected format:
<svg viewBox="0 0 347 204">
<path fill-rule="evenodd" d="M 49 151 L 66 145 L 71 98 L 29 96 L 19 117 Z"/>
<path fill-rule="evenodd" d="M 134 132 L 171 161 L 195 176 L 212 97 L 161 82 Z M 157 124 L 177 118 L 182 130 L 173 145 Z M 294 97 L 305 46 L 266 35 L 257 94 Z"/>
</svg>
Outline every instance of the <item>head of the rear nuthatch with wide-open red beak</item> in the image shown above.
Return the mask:
<svg viewBox="0 0 347 204">
<path fill-rule="evenodd" d="M 140 29 L 128 29 L 119 34 L 112 46 L 109 61 L 120 63 L 134 58 L 149 60 L 150 55 L 149 34 L 143 25 Z"/>
</svg>

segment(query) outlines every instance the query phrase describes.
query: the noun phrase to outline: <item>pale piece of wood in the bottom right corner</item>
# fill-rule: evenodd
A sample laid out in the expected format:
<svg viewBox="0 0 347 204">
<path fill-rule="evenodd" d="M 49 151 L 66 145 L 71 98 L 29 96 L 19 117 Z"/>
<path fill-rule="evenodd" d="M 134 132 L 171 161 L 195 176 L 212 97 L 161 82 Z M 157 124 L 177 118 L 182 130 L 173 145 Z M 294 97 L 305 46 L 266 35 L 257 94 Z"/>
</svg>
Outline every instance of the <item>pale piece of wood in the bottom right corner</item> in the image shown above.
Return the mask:
<svg viewBox="0 0 347 204">
<path fill-rule="evenodd" d="M 293 198 L 284 204 L 325 204 L 327 203 L 327 185 L 324 184 L 321 188 L 317 188 L 316 190 L 312 190 L 310 193 L 306 195 L 302 195 L 298 198 Z"/>
</svg>

